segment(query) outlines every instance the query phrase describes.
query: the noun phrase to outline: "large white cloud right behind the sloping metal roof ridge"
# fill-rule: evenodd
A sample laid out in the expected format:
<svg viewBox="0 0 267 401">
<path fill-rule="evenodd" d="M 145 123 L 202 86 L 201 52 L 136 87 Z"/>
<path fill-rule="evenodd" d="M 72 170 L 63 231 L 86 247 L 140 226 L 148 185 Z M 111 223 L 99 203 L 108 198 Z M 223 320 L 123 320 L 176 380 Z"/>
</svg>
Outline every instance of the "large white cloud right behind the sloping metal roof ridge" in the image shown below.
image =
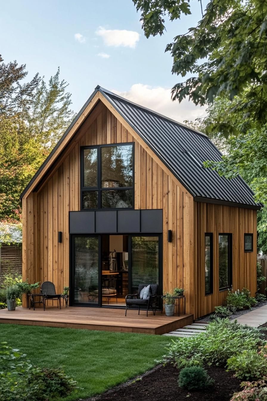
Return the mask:
<svg viewBox="0 0 267 401">
<path fill-rule="evenodd" d="M 137 83 L 132 85 L 129 91 L 118 92 L 113 90 L 112 92 L 141 106 L 157 111 L 157 113 L 166 115 L 180 123 L 183 123 L 185 120 L 194 121 L 196 118 L 206 115 L 205 106 L 196 106 L 192 101 L 188 101 L 187 99 L 181 103 L 179 101 L 172 101 L 171 88 L 165 89 Z"/>
</svg>

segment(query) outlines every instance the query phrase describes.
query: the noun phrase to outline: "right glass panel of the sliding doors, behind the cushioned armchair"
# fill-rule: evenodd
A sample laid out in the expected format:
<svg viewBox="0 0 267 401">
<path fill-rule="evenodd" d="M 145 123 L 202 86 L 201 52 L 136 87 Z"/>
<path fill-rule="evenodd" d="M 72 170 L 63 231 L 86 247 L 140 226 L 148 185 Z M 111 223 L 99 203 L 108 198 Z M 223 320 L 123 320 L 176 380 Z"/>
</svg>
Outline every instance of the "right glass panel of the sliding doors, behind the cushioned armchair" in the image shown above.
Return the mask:
<svg viewBox="0 0 267 401">
<path fill-rule="evenodd" d="M 132 237 L 132 291 L 139 284 L 159 284 L 158 237 Z"/>
</svg>

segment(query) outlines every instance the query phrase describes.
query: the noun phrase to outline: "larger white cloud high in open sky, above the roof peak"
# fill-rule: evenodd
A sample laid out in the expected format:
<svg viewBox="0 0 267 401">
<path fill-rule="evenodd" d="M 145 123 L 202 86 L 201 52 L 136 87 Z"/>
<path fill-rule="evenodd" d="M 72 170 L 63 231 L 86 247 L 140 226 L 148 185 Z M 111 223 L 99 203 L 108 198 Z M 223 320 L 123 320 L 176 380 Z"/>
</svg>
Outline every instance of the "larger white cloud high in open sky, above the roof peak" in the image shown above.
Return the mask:
<svg viewBox="0 0 267 401">
<path fill-rule="evenodd" d="M 105 29 L 99 26 L 96 30 L 98 36 L 102 36 L 104 44 L 107 46 L 123 46 L 135 48 L 139 41 L 140 34 L 133 30 L 126 29 Z"/>
</svg>

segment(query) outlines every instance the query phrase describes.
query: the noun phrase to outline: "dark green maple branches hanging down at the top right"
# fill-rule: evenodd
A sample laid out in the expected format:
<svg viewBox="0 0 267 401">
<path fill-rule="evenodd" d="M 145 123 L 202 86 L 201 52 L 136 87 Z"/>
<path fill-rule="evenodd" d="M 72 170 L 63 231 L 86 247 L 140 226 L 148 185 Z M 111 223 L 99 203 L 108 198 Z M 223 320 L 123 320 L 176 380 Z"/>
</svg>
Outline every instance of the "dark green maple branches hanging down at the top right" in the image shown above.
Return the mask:
<svg viewBox="0 0 267 401">
<path fill-rule="evenodd" d="M 191 14 L 190 0 L 133 0 L 141 11 L 147 37 L 165 30 L 165 18 L 177 20 Z M 195 4 L 194 4 L 195 6 Z M 189 96 L 196 105 L 212 103 L 215 97 L 230 102 L 218 116 L 224 128 L 236 133 L 229 112 L 241 113 L 244 124 L 267 123 L 267 2 L 266 0 L 212 0 L 197 26 L 177 35 L 166 47 L 173 57 L 172 72 L 185 77 L 172 89 L 173 99 Z M 235 97 L 238 96 L 238 99 Z M 232 103 L 232 101 L 234 101 Z M 240 128 L 240 127 L 239 127 Z M 246 129 L 245 126 L 244 129 Z"/>
</svg>

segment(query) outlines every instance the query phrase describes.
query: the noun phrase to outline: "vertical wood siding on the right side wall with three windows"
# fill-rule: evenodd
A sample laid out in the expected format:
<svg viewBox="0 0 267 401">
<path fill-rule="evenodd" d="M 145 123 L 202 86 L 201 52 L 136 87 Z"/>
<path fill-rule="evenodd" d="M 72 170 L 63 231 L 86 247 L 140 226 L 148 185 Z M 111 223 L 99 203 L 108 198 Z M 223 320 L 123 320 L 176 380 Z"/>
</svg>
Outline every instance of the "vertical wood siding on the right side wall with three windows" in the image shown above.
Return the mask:
<svg viewBox="0 0 267 401">
<path fill-rule="evenodd" d="M 213 294 L 205 296 L 205 233 L 213 233 Z M 195 318 L 222 305 L 227 291 L 219 291 L 219 233 L 233 237 L 233 289 L 257 290 L 257 211 L 195 202 Z M 244 233 L 253 233 L 253 252 L 244 252 Z"/>
</svg>

